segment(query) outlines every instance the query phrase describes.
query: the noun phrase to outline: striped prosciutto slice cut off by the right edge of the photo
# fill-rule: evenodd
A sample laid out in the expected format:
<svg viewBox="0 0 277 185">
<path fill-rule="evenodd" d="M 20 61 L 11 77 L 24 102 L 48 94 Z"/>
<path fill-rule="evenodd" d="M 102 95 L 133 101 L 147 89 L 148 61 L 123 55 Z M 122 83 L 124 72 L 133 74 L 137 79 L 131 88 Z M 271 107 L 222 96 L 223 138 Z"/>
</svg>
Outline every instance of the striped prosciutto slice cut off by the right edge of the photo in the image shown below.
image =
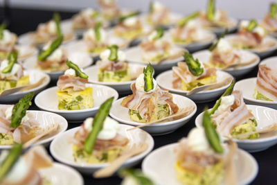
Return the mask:
<svg viewBox="0 0 277 185">
<path fill-rule="evenodd" d="M 277 101 L 277 71 L 266 65 L 260 65 L 256 89 L 260 94 Z"/>
</svg>

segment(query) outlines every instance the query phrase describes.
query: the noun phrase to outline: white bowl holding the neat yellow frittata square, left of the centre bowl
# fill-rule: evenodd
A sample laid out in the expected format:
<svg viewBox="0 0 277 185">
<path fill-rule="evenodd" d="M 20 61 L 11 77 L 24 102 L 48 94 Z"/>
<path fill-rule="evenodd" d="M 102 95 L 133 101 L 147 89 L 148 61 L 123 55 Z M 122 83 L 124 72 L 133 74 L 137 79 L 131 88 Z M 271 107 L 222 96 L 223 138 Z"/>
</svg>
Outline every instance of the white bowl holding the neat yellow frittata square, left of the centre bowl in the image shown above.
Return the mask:
<svg viewBox="0 0 277 185">
<path fill-rule="evenodd" d="M 60 114 L 64 116 L 66 120 L 70 122 L 80 122 L 84 121 L 85 118 L 94 116 L 102 103 L 107 100 L 107 98 L 114 97 L 114 100 L 117 100 L 118 93 L 116 90 L 111 87 L 107 87 L 104 85 L 92 85 L 88 84 L 87 87 L 93 88 L 93 100 L 94 107 L 90 109 L 80 109 L 80 110 L 59 110 L 57 109 L 57 87 L 51 87 L 49 89 L 45 89 L 41 93 L 37 94 L 35 97 L 35 105 L 39 107 L 39 109 L 46 110 L 48 112 L 55 112 L 56 114 Z"/>
</svg>

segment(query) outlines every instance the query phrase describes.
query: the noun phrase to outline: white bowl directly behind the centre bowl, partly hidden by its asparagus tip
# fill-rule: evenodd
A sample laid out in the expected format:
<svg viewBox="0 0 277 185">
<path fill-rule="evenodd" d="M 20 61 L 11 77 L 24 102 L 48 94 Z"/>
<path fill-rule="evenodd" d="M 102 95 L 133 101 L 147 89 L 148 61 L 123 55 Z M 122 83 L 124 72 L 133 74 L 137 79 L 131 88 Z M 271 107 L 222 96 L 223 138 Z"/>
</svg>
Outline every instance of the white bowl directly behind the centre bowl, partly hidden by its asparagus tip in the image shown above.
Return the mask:
<svg viewBox="0 0 277 185">
<path fill-rule="evenodd" d="M 177 48 L 176 49 L 181 49 L 181 48 Z M 186 49 L 184 49 L 184 51 L 186 51 Z M 125 51 L 126 53 L 126 60 L 127 62 L 132 62 L 132 63 L 139 63 L 139 64 L 148 64 L 148 61 L 143 61 L 142 58 L 142 51 L 141 48 L 139 46 L 134 46 L 132 48 L 129 48 Z M 154 68 L 156 73 L 160 73 L 162 71 L 171 69 L 173 66 L 175 66 L 177 64 L 177 62 L 180 62 L 181 60 L 184 60 L 184 57 L 181 56 L 179 58 L 176 58 L 174 60 L 166 60 L 163 61 L 159 64 L 154 64 L 151 63 L 152 67 Z"/>
</svg>

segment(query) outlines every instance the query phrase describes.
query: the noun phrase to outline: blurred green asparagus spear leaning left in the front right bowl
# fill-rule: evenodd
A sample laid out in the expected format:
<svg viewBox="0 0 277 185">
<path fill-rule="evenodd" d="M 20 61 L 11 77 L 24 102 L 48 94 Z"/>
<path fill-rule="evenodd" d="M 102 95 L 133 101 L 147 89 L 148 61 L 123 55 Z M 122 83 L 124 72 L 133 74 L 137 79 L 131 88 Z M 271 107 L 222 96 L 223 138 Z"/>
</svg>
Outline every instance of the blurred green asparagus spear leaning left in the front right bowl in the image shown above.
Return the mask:
<svg viewBox="0 0 277 185">
<path fill-rule="evenodd" d="M 215 125 L 211 121 L 211 116 L 207 111 L 204 112 L 203 116 L 203 126 L 206 133 L 206 137 L 208 139 L 208 143 L 210 143 L 211 147 L 215 152 L 222 154 L 224 152 L 222 145 L 220 143 L 220 136 L 218 136 Z"/>
</svg>

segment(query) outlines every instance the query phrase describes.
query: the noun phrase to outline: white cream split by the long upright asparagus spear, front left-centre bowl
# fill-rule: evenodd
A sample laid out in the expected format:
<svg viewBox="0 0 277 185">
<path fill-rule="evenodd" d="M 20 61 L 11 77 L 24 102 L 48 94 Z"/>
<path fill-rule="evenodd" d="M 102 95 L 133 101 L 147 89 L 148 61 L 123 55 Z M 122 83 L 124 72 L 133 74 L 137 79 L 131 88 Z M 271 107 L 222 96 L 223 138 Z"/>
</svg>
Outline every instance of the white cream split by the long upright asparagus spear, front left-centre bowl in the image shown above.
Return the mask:
<svg viewBox="0 0 277 185">
<path fill-rule="evenodd" d="M 87 118 L 84 121 L 84 129 L 88 132 L 92 130 L 93 118 Z M 107 117 L 105 118 L 102 130 L 99 132 L 97 139 L 109 140 L 114 139 L 118 130 L 119 123 L 114 119 Z"/>
</svg>

